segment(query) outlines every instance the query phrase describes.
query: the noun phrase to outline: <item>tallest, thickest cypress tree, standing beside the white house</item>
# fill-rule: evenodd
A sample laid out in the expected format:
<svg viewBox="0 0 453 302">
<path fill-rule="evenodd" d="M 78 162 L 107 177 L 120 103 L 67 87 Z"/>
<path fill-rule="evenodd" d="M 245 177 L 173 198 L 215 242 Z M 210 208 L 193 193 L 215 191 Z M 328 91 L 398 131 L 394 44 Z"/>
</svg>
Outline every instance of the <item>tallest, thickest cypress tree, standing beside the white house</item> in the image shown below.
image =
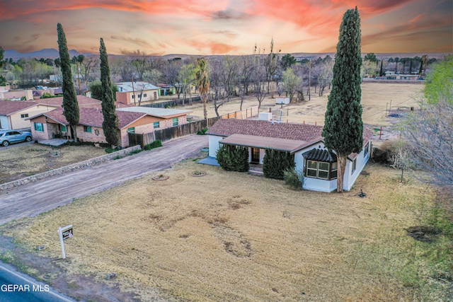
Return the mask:
<svg viewBox="0 0 453 302">
<path fill-rule="evenodd" d="M 337 192 L 343 192 L 348 154 L 360 152 L 363 145 L 360 40 L 360 16 L 356 6 L 355 9 L 346 11 L 340 26 L 332 91 L 328 95 L 322 133 L 326 147 L 337 153 Z"/>
</svg>

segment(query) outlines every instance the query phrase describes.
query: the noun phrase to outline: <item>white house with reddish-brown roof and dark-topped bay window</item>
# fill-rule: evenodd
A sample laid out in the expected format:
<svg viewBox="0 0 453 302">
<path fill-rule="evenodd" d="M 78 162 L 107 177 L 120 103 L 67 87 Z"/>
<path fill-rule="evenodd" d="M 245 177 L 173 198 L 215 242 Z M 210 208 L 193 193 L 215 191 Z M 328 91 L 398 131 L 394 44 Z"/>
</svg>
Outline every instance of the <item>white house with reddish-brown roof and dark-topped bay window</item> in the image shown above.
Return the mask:
<svg viewBox="0 0 453 302">
<path fill-rule="evenodd" d="M 332 192 L 337 187 L 337 157 L 324 146 L 322 126 L 279 124 L 263 120 L 218 120 L 207 132 L 209 156 L 220 144 L 246 146 L 251 163 L 263 163 L 265 149 L 294 154 L 295 168 L 304 172 L 304 189 Z M 351 153 L 345 168 L 343 190 L 350 190 L 369 159 L 373 132 L 364 129 L 363 149 Z"/>
</svg>

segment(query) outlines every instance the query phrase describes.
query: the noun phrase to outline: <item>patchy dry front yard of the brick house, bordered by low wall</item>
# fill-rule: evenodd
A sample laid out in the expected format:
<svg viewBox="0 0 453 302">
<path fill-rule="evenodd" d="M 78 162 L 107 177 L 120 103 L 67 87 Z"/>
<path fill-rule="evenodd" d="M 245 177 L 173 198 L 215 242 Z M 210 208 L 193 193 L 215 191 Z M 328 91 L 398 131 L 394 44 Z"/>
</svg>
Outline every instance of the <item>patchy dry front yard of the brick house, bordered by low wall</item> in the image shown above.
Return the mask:
<svg viewBox="0 0 453 302">
<path fill-rule="evenodd" d="M 94 146 L 52 148 L 39 144 L 26 144 L 13 148 L 0 148 L 0 183 L 18 180 L 105 154 L 107 153 L 104 149 Z"/>
</svg>

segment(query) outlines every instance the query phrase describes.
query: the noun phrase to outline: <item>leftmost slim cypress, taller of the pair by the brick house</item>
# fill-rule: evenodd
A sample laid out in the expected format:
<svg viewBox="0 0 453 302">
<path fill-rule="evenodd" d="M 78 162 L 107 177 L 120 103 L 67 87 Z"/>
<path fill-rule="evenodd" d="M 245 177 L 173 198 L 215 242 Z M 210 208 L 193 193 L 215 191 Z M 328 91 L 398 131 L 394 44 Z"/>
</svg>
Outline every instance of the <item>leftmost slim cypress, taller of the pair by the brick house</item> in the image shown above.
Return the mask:
<svg viewBox="0 0 453 302">
<path fill-rule="evenodd" d="M 74 141 L 77 142 L 76 125 L 79 124 L 80 112 L 76 89 L 72 81 L 71 59 L 69 58 L 66 35 L 60 23 L 57 24 L 59 61 L 62 69 L 63 115 L 71 126 Z"/>
</svg>

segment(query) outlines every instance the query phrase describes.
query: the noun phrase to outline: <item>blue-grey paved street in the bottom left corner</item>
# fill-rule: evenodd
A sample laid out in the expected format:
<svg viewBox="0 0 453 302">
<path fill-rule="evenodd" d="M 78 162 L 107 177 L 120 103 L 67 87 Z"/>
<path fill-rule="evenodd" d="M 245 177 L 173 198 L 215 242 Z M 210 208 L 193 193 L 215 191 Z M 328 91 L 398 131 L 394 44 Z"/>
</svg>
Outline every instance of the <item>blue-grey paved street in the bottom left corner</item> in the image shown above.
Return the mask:
<svg viewBox="0 0 453 302">
<path fill-rule="evenodd" d="M 48 284 L 17 272 L 11 265 L 0 262 L 0 302 L 73 302 L 58 294 Z"/>
</svg>

